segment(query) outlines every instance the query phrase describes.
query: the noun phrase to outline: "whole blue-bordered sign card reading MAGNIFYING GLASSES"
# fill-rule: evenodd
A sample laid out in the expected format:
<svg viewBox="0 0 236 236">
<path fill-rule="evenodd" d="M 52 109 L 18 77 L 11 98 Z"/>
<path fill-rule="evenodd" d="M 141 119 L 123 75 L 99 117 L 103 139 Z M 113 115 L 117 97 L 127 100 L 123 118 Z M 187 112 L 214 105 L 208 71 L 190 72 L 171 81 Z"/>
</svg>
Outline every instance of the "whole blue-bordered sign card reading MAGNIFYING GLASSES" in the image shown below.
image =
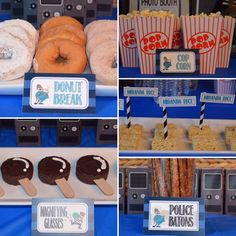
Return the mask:
<svg viewBox="0 0 236 236">
<path fill-rule="evenodd" d="M 89 199 L 33 198 L 32 236 L 94 236 L 94 203 Z"/>
</svg>

